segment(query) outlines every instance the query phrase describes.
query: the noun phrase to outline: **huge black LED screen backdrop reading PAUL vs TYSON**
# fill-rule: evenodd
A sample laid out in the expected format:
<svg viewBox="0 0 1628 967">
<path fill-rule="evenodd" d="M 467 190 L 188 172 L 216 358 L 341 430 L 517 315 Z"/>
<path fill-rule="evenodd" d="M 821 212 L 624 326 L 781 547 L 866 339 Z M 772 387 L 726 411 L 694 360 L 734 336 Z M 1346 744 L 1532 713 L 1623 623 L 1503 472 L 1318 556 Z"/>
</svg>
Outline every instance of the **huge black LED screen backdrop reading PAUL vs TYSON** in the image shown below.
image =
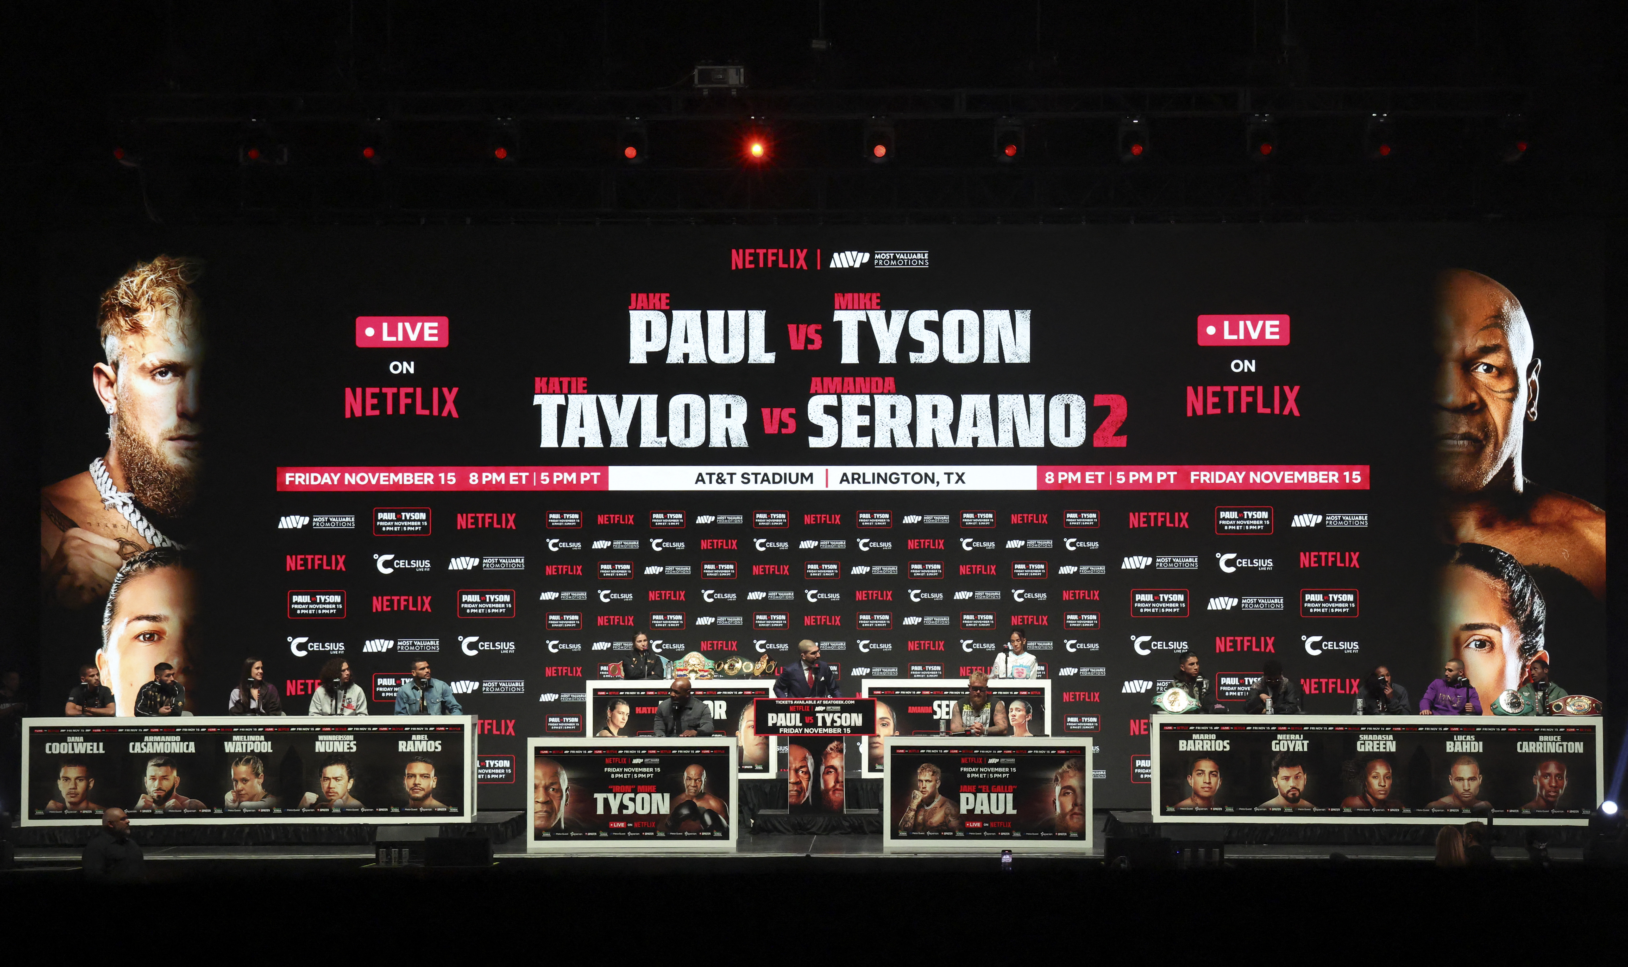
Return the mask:
<svg viewBox="0 0 1628 967">
<path fill-rule="evenodd" d="M 1416 703 L 1447 658 L 1483 707 L 1537 658 L 1597 695 L 1599 247 L 1400 225 L 62 234 L 41 676 L 67 697 L 98 664 L 129 713 L 168 661 L 190 711 L 225 715 L 259 658 L 304 713 L 339 659 L 386 715 L 425 659 L 482 755 L 523 760 L 527 734 L 594 729 L 584 682 L 614 667 L 768 682 L 807 638 L 847 695 L 996 664 L 1052 682 L 1042 731 L 1094 742 L 1104 806 L 1146 803 L 1149 702 L 1188 651 L 1229 710 L 1267 659 L 1311 713 L 1377 664 Z"/>
</svg>

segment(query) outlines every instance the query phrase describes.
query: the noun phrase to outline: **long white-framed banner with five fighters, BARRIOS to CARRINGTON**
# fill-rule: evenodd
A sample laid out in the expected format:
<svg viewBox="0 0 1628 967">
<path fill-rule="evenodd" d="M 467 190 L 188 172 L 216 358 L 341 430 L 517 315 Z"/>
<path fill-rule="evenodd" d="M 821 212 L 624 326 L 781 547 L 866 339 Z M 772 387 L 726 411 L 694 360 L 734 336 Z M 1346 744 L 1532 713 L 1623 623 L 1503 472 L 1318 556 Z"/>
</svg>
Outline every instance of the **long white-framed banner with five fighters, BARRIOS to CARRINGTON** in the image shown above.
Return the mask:
<svg viewBox="0 0 1628 967">
<path fill-rule="evenodd" d="M 1153 814 L 1182 822 L 1586 825 L 1599 718 L 1153 716 Z"/>
</svg>

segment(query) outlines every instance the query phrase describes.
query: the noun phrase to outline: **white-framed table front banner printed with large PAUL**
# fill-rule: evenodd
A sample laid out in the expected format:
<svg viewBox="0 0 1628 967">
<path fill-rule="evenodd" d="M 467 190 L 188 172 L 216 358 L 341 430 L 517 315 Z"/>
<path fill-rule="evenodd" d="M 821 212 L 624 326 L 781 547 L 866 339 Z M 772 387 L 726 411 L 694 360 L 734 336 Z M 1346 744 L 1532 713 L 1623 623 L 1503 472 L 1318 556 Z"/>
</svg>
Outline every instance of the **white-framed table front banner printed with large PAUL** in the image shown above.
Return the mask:
<svg viewBox="0 0 1628 967">
<path fill-rule="evenodd" d="M 882 848 L 1089 850 L 1091 741 L 886 739 Z"/>
</svg>

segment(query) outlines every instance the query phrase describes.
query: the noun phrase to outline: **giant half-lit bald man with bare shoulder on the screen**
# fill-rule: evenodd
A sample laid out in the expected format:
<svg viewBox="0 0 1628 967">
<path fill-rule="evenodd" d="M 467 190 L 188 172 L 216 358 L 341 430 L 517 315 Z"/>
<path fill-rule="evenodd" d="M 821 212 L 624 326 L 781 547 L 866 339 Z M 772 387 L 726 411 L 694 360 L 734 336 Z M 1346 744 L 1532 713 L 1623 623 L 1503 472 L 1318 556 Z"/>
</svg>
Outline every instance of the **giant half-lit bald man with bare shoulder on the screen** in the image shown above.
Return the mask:
<svg viewBox="0 0 1628 967">
<path fill-rule="evenodd" d="M 1444 537 L 1490 544 L 1553 568 L 1605 597 L 1605 511 L 1527 480 L 1525 425 L 1537 422 L 1538 373 L 1521 301 L 1491 278 L 1442 273 L 1436 301 L 1436 477 Z M 1550 596 L 1548 588 L 1545 594 Z"/>
</svg>

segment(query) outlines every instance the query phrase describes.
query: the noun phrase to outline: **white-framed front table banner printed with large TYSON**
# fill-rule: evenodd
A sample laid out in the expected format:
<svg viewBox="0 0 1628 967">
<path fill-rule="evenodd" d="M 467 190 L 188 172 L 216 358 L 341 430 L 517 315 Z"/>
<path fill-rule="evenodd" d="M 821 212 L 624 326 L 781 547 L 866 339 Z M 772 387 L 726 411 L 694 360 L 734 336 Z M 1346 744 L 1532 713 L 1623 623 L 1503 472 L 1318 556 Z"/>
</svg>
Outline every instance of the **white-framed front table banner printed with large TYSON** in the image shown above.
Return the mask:
<svg viewBox="0 0 1628 967">
<path fill-rule="evenodd" d="M 527 739 L 529 850 L 734 850 L 733 739 Z"/>
</svg>

